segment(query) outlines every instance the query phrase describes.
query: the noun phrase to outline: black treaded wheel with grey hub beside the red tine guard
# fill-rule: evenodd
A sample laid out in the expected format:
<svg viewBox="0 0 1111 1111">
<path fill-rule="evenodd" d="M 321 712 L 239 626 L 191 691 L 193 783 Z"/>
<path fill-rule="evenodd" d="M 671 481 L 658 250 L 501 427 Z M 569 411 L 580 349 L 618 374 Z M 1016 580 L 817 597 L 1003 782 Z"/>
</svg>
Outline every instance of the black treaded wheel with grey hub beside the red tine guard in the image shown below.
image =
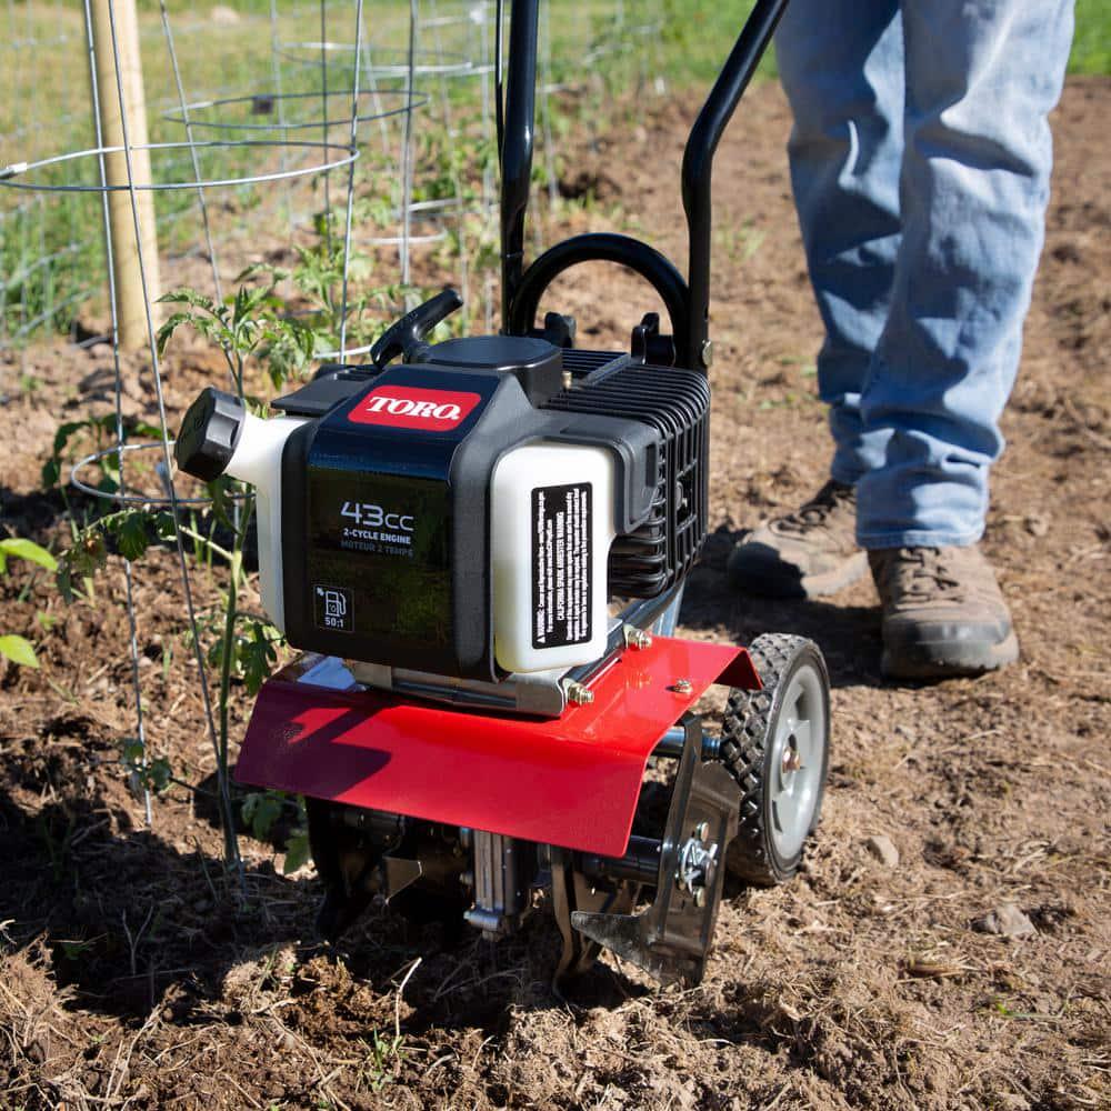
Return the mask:
<svg viewBox="0 0 1111 1111">
<path fill-rule="evenodd" d="M 821 813 L 829 769 L 829 672 L 818 645 L 804 637 L 765 633 L 749 653 L 763 688 L 732 690 L 719 750 L 742 792 L 725 867 L 745 883 L 773 887 L 799 870 Z"/>
</svg>

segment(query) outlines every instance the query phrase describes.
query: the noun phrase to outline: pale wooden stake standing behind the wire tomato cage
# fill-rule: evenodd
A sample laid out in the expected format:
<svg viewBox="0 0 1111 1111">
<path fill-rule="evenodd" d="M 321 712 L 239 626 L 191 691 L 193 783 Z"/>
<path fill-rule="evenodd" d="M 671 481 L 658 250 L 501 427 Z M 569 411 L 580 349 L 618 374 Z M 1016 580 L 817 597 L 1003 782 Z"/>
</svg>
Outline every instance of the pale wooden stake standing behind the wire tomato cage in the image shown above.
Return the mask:
<svg viewBox="0 0 1111 1111">
<path fill-rule="evenodd" d="M 134 0 L 90 0 L 96 81 L 100 97 L 100 127 L 104 147 L 119 147 L 119 153 L 104 158 L 109 186 L 123 186 L 108 194 L 109 234 L 112 240 L 116 277 L 117 342 L 122 351 L 136 351 L 150 341 L 147 334 L 147 302 L 143 297 L 136 221 L 131 193 L 127 189 L 128 164 L 123 153 L 123 114 L 120 112 L 120 86 L 131 150 L 131 174 L 137 187 L 149 186 L 150 140 L 147 131 L 147 102 L 143 96 L 142 62 L 139 54 L 139 20 Z M 112 19 L 116 21 L 116 50 L 112 49 Z M 119 83 L 117 83 L 117 58 Z M 137 149 L 142 148 L 142 149 Z M 158 233 L 154 222 L 154 194 L 138 189 L 139 233 L 147 277 L 147 297 L 153 302 L 160 293 Z M 157 322 L 157 321 L 156 321 Z"/>
</svg>

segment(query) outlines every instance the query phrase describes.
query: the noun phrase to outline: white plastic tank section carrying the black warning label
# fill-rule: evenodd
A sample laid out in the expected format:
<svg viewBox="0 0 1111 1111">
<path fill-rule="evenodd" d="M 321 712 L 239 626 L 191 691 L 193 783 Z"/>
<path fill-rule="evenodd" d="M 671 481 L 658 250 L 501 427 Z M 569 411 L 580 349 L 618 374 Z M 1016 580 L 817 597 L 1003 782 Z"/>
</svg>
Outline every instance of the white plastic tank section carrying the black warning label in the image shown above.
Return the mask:
<svg viewBox="0 0 1111 1111">
<path fill-rule="evenodd" d="M 603 448 L 531 443 L 494 467 L 494 658 L 507 671 L 573 668 L 605 651 L 613 483 Z"/>
</svg>

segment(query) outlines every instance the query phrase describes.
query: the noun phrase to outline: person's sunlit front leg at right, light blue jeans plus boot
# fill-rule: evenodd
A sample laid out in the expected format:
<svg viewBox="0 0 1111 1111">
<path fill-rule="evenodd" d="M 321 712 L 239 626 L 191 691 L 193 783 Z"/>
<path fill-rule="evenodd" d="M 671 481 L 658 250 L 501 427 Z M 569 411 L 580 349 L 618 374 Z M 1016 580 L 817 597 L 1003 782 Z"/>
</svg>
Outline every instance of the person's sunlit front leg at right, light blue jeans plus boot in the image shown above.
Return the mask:
<svg viewBox="0 0 1111 1111">
<path fill-rule="evenodd" d="M 975 547 L 1003 439 L 1052 163 L 1071 0 L 902 0 L 903 236 L 861 398 L 883 437 L 857 539 L 883 605 L 883 670 L 938 677 L 1018 655 Z"/>
</svg>

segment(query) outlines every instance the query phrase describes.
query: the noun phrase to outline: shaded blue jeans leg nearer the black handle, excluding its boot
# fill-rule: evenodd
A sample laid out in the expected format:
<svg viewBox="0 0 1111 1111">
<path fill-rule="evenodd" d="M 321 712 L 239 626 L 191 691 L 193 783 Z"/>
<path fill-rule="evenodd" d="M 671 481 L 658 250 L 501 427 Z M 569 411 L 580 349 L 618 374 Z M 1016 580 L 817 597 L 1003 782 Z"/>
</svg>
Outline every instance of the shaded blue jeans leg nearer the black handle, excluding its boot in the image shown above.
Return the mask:
<svg viewBox="0 0 1111 1111">
<path fill-rule="evenodd" d="M 884 458 L 860 396 L 887 322 L 900 243 L 903 36 L 898 0 L 794 0 L 775 37 L 794 114 L 791 187 L 825 324 L 818 389 L 830 407 L 831 477 L 852 486 Z"/>
</svg>

